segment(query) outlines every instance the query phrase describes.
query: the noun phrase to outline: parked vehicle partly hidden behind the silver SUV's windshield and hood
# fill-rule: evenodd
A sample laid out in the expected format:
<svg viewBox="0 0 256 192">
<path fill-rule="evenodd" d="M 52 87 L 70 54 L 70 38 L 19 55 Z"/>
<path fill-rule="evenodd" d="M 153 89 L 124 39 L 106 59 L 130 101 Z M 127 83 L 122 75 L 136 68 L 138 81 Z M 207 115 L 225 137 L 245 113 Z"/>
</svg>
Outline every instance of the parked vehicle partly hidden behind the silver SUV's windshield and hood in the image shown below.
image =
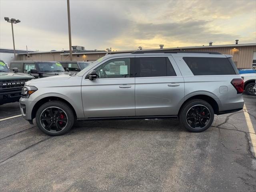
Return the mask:
<svg viewBox="0 0 256 192">
<path fill-rule="evenodd" d="M 84 61 L 59 61 L 67 72 L 78 72 L 86 68 L 91 62 Z"/>
</svg>

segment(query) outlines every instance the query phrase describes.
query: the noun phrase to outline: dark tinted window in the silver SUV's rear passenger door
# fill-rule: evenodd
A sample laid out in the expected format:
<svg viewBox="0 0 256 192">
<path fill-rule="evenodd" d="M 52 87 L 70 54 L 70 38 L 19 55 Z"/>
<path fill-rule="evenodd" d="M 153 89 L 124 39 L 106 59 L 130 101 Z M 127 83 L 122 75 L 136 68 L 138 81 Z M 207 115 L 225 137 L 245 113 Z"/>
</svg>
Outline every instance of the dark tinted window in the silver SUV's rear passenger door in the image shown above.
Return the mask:
<svg viewBox="0 0 256 192">
<path fill-rule="evenodd" d="M 176 76 L 167 57 L 136 58 L 136 77 Z"/>
</svg>

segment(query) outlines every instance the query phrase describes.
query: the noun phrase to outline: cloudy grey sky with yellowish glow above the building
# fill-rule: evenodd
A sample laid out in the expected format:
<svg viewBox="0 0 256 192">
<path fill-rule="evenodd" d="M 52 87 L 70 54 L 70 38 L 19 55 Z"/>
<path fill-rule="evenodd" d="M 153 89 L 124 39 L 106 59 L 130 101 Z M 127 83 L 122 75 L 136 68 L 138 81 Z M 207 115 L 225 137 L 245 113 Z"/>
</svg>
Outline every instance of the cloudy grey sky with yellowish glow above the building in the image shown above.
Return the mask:
<svg viewBox="0 0 256 192">
<path fill-rule="evenodd" d="M 0 48 L 68 50 L 66 0 L 0 0 Z M 70 0 L 72 46 L 136 50 L 256 43 L 256 0 Z"/>
</svg>

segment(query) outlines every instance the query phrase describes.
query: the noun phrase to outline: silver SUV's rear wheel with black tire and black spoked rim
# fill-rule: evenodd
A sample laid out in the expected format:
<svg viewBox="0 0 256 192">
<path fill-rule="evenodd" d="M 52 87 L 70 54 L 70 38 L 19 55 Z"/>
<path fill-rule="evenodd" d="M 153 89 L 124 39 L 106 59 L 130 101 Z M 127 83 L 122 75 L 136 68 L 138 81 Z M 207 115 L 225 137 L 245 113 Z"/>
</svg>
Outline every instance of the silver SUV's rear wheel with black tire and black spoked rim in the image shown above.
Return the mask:
<svg viewBox="0 0 256 192">
<path fill-rule="evenodd" d="M 186 130 L 202 132 L 212 125 L 214 110 L 208 102 L 201 99 L 192 99 L 187 101 L 180 109 L 179 120 Z"/>
</svg>

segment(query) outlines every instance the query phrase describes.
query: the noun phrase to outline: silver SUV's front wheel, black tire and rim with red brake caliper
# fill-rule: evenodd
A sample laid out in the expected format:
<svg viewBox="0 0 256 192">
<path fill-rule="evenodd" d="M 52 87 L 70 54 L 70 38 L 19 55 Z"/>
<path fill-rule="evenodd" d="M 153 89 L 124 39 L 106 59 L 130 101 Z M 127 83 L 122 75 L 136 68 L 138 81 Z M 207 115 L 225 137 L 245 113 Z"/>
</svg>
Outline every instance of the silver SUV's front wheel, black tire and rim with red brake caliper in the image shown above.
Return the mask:
<svg viewBox="0 0 256 192">
<path fill-rule="evenodd" d="M 47 135 L 63 135 L 74 124 L 74 112 L 65 102 L 58 100 L 49 101 L 37 110 L 36 124 Z"/>
</svg>

